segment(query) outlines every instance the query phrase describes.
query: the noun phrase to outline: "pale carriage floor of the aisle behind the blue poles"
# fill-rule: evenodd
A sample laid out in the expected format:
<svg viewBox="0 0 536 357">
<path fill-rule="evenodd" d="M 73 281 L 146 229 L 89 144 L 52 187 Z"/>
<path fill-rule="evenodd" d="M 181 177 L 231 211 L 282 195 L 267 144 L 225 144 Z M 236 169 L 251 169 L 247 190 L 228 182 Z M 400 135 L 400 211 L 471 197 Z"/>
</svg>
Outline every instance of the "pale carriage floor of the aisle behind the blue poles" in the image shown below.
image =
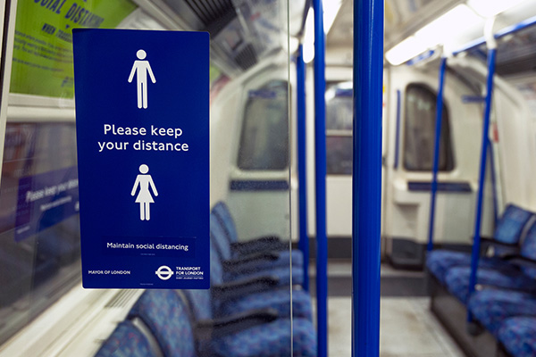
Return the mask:
<svg viewBox="0 0 536 357">
<path fill-rule="evenodd" d="M 314 267 L 311 268 L 314 295 Z M 351 263 L 328 266 L 330 357 L 351 356 Z M 447 331 L 429 310 L 422 271 L 381 265 L 381 357 L 463 357 Z M 313 303 L 315 306 L 315 303 Z"/>
</svg>

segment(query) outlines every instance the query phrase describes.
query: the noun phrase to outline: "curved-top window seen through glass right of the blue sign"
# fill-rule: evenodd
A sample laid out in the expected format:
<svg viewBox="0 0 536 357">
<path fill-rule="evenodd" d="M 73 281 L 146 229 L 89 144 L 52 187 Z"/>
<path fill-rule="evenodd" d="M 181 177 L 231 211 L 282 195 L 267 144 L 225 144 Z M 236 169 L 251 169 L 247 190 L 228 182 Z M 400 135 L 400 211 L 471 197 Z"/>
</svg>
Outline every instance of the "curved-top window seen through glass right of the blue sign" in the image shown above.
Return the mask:
<svg viewBox="0 0 536 357">
<path fill-rule="evenodd" d="M 289 84 L 272 80 L 248 93 L 238 166 L 285 170 L 289 165 Z"/>
</svg>

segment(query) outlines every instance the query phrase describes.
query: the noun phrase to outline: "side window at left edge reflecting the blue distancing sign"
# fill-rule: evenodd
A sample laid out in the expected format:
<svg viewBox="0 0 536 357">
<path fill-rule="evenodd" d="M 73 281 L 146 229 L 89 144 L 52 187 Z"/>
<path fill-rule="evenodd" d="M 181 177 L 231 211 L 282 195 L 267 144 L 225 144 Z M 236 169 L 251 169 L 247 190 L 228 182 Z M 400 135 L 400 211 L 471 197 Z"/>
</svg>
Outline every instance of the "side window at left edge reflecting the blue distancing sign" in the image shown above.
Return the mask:
<svg viewBox="0 0 536 357">
<path fill-rule="evenodd" d="M 80 281 L 75 145 L 73 122 L 7 123 L 0 186 L 0 316 L 6 323 L 0 324 L 0 344 Z M 63 184 L 54 195 L 39 195 L 41 187 Z"/>
</svg>

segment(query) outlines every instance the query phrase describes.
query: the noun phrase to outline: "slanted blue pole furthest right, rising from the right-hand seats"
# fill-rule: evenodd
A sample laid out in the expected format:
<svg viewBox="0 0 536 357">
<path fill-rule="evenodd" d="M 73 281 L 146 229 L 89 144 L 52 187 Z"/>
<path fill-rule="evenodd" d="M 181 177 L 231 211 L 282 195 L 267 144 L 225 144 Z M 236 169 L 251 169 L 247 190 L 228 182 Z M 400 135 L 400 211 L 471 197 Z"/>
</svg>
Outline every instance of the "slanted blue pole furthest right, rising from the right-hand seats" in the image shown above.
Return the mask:
<svg viewBox="0 0 536 357">
<path fill-rule="evenodd" d="M 478 261 L 481 250 L 481 223 L 482 223 L 482 201 L 484 195 L 484 179 L 486 177 L 486 153 L 488 151 L 488 136 L 490 133 L 490 114 L 491 114 L 491 97 L 493 95 L 493 76 L 495 74 L 495 55 L 497 50 L 490 48 L 488 51 L 488 80 L 486 83 L 486 108 L 484 110 L 484 120 L 482 123 L 482 149 L 481 149 L 481 164 L 478 179 L 478 195 L 476 198 L 476 217 L 474 219 L 474 234 L 473 234 L 473 251 L 471 255 L 471 275 L 469 276 L 469 291 L 467 296 L 471 296 L 474 292 L 476 284 L 476 272 L 478 270 Z M 471 322 L 473 316 L 467 310 L 467 321 Z"/>
</svg>

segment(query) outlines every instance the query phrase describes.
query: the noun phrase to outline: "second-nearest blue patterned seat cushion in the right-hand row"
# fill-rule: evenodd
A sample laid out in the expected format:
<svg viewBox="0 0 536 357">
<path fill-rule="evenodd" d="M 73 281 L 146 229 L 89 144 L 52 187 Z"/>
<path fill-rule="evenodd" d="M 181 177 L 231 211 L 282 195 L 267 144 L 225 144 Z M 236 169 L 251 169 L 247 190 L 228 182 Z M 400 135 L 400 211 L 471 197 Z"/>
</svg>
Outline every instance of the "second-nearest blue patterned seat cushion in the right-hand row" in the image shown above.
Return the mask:
<svg viewBox="0 0 536 357">
<path fill-rule="evenodd" d="M 471 296 L 468 309 L 484 328 L 498 336 L 498 329 L 507 318 L 521 315 L 536 317 L 536 295 L 504 289 L 484 289 Z"/>
</svg>

